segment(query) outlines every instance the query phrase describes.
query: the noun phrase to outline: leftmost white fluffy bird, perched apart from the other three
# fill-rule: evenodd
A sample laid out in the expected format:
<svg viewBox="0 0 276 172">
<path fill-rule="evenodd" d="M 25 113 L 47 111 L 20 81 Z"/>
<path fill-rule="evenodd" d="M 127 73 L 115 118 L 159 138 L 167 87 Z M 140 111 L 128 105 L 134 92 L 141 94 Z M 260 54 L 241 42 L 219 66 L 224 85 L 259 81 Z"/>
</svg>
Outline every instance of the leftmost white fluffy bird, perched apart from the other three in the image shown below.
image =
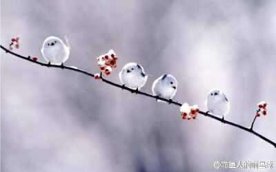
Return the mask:
<svg viewBox="0 0 276 172">
<path fill-rule="evenodd" d="M 41 53 L 46 61 L 53 65 L 62 65 L 68 59 L 70 48 L 67 47 L 61 39 L 50 36 L 45 39 Z"/>
</svg>

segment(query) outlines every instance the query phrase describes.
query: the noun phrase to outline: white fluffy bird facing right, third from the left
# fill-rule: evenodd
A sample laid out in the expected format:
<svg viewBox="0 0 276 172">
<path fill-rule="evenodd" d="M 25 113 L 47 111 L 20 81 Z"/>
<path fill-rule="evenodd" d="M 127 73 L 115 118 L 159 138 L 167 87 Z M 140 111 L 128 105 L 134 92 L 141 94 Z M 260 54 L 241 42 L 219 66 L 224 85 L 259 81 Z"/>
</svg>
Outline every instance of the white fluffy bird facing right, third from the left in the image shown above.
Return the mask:
<svg viewBox="0 0 276 172">
<path fill-rule="evenodd" d="M 177 92 L 177 80 L 170 74 L 164 74 L 157 78 L 152 84 L 152 93 L 153 96 L 169 99 L 170 102 L 172 101 L 172 97 L 175 96 Z"/>
</svg>

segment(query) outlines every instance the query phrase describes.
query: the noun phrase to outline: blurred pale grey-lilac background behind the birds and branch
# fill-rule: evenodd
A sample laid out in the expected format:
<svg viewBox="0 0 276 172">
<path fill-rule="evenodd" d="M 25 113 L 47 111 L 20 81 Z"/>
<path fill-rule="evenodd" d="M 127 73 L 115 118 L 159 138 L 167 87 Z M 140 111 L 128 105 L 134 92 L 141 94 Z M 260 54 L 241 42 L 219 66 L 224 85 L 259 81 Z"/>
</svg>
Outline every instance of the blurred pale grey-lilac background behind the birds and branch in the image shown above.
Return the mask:
<svg viewBox="0 0 276 172">
<path fill-rule="evenodd" d="M 98 73 L 97 56 L 119 57 L 178 80 L 173 100 L 204 105 L 210 89 L 231 103 L 225 117 L 276 142 L 276 1 L 1 1 L 1 45 L 20 37 L 23 56 L 44 39 L 68 37 L 64 65 Z M 273 161 L 276 149 L 251 133 L 130 94 L 86 75 L 41 67 L 1 50 L 2 171 L 215 171 L 215 161 Z M 242 164 L 243 165 L 243 164 Z M 233 171 L 233 169 L 224 169 Z M 236 171 L 253 171 L 242 169 Z M 257 170 L 256 170 L 257 171 Z M 273 171 L 273 169 L 262 169 Z"/>
</svg>

